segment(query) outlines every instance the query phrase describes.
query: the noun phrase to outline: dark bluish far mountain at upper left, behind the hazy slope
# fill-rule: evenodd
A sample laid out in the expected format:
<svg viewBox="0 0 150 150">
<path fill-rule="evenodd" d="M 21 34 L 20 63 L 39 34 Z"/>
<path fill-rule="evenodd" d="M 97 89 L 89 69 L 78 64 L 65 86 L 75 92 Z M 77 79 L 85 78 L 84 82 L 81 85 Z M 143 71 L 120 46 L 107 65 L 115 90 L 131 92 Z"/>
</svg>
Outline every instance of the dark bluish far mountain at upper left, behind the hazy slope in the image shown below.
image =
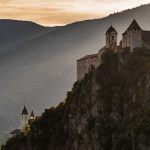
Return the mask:
<svg viewBox="0 0 150 150">
<path fill-rule="evenodd" d="M 0 20 L 0 50 L 51 29 L 29 21 Z"/>
</svg>

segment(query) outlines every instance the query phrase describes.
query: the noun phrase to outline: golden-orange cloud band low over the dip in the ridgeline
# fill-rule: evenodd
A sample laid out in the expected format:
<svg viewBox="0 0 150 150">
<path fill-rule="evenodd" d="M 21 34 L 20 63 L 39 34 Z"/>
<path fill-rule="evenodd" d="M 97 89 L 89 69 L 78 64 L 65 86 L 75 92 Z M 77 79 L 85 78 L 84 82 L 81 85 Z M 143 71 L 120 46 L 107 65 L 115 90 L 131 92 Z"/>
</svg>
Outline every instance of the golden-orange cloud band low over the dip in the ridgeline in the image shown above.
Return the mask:
<svg viewBox="0 0 150 150">
<path fill-rule="evenodd" d="M 41 9 L 41 8 L 24 8 L 21 7 L 13 11 L 11 8 L 5 8 L 4 10 L 0 7 L 1 18 L 6 18 L 9 16 L 10 19 L 19 19 L 19 20 L 30 20 L 44 25 L 64 25 L 78 20 L 87 20 L 95 17 L 102 17 L 103 14 L 98 16 L 93 16 L 91 13 L 82 13 L 82 12 L 68 12 L 62 11 L 59 8 L 51 9 Z"/>
</svg>

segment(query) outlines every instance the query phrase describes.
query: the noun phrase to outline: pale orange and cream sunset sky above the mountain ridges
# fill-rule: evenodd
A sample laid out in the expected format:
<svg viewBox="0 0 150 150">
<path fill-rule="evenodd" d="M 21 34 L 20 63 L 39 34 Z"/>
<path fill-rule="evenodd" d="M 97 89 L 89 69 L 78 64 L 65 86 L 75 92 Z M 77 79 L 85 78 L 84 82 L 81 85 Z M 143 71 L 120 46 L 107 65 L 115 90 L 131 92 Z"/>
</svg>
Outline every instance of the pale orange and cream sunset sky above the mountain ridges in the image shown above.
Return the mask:
<svg viewBox="0 0 150 150">
<path fill-rule="evenodd" d="M 0 19 L 60 26 L 102 18 L 147 3 L 150 0 L 0 0 Z"/>
</svg>

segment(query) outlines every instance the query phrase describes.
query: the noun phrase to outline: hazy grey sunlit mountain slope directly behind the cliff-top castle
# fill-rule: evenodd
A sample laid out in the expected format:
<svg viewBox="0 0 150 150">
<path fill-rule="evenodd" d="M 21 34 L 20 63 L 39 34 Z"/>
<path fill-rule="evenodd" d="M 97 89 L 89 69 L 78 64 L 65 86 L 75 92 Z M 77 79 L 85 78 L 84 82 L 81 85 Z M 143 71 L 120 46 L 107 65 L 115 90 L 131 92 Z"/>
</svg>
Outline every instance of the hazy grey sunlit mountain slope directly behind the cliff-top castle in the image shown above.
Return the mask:
<svg viewBox="0 0 150 150">
<path fill-rule="evenodd" d="M 105 32 L 111 22 L 120 38 L 134 18 L 143 29 L 150 30 L 149 14 L 150 5 L 144 5 L 103 19 L 46 31 L 3 49 L 0 53 L 0 128 L 19 125 L 23 103 L 29 110 L 41 113 L 63 99 L 76 80 L 76 59 L 104 46 Z"/>
</svg>

